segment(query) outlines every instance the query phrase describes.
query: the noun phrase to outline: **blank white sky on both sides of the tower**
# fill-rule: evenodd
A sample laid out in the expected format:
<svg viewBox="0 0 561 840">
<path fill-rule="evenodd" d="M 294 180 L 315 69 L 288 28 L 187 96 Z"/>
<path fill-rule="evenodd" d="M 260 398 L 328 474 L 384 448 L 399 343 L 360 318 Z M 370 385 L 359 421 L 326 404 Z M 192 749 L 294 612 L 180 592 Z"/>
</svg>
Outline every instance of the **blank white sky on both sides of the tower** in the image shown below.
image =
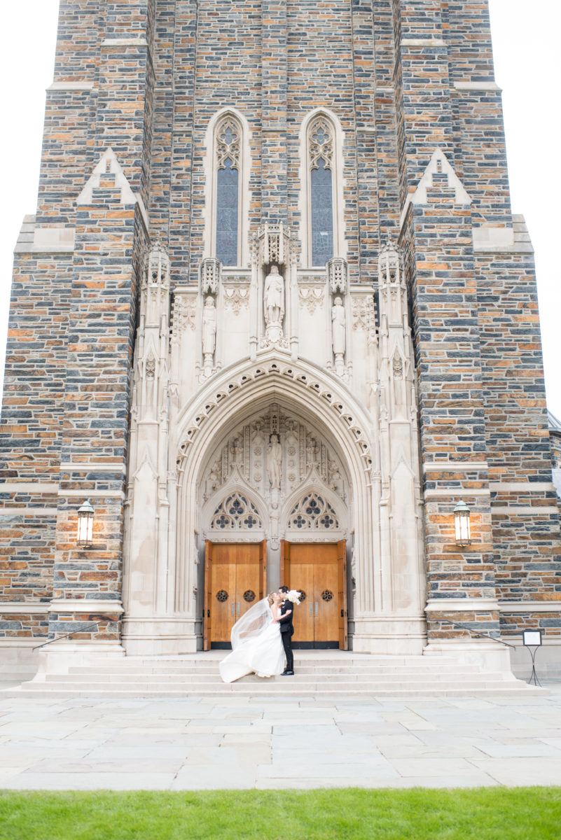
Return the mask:
<svg viewBox="0 0 561 840">
<path fill-rule="evenodd" d="M 58 0 L 4 3 L 0 50 L 0 379 L 12 252 L 25 213 L 34 213 L 45 108 L 53 76 Z M 495 77 L 503 88 L 512 209 L 526 217 L 536 251 L 548 407 L 561 418 L 561 169 L 558 0 L 490 0 Z M 1 383 L 0 383 L 1 385 Z"/>
</svg>

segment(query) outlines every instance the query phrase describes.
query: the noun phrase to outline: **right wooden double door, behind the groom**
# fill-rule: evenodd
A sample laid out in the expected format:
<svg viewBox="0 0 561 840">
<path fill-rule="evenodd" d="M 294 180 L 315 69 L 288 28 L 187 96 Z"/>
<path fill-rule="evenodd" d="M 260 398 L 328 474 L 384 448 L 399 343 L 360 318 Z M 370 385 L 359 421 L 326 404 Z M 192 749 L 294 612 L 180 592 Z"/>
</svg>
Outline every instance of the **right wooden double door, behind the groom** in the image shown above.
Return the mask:
<svg viewBox="0 0 561 840">
<path fill-rule="evenodd" d="M 281 543 L 281 581 L 303 594 L 293 648 L 347 649 L 346 543 Z"/>
</svg>

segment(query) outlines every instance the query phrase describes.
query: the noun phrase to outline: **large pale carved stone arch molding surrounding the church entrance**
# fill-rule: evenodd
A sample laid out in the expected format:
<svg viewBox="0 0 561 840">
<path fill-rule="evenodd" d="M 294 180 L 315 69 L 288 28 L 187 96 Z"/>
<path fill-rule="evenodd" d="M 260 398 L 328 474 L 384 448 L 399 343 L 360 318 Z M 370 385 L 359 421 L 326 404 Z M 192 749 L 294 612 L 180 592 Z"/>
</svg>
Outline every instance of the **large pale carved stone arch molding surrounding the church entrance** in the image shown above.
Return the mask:
<svg viewBox="0 0 561 840">
<path fill-rule="evenodd" d="M 192 535 L 200 537 L 195 500 L 208 453 L 228 424 L 233 428 L 247 416 L 249 407 L 258 412 L 271 400 L 309 417 L 326 438 L 336 442 L 352 491 L 349 533 L 354 533 L 354 615 L 374 615 L 375 581 L 380 580 L 381 570 L 372 526 L 370 417 L 343 383 L 306 362 L 291 364 L 274 351 L 261 355 L 259 363 L 248 360 L 221 371 L 181 412 L 175 444 L 170 446 L 171 452 L 175 446 L 177 455 L 176 512 L 172 514 L 177 538 L 170 557 L 170 575 L 176 581 L 174 609 L 200 621 L 197 598 L 191 597 L 191 592 L 202 583 L 201 556 L 197 556 Z"/>
</svg>

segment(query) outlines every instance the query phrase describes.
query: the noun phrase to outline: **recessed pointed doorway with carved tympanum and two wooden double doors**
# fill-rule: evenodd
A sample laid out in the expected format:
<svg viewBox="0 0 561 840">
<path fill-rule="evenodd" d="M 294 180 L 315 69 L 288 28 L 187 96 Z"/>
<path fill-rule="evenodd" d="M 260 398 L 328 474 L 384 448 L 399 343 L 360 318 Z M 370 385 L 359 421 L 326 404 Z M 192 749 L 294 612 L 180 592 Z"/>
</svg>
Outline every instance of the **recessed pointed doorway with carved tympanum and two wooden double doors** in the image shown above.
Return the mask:
<svg viewBox="0 0 561 840">
<path fill-rule="evenodd" d="M 262 597 L 281 582 L 308 599 L 295 614 L 296 644 L 346 647 L 350 481 L 321 427 L 270 402 L 210 448 L 200 483 L 205 649 L 227 646 L 248 592 Z"/>
</svg>

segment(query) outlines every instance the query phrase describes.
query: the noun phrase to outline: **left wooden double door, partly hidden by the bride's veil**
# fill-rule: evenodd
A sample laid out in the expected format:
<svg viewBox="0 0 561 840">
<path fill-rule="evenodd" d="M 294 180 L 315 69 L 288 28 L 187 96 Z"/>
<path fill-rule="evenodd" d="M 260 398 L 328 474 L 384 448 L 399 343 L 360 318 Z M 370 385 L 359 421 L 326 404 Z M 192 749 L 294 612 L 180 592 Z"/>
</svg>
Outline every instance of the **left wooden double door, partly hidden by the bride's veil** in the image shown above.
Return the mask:
<svg viewBox="0 0 561 840">
<path fill-rule="evenodd" d="M 203 649 L 229 648 L 239 617 L 267 594 L 267 543 L 211 543 L 205 547 Z"/>
</svg>

